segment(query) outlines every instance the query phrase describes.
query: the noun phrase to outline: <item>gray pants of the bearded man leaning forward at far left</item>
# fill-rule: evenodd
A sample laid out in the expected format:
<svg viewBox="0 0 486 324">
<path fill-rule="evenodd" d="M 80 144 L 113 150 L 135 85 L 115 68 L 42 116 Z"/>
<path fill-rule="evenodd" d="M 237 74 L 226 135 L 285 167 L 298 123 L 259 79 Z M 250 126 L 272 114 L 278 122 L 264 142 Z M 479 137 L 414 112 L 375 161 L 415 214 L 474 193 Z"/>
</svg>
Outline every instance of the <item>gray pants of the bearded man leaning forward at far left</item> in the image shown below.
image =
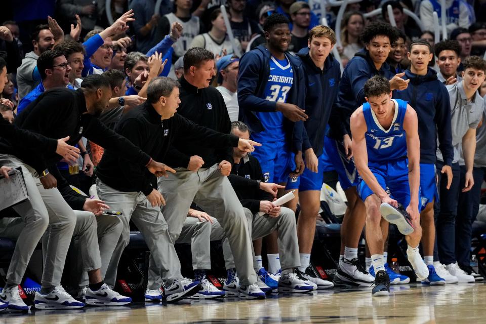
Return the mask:
<svg viewBox="0 0 486 324">
<path fill-rule="evenodd" d="M 57 188 L 44 189 L 35 170 L 17 157 L 0 154 L 0 165 L 22 168 L 29 195 L 28 201 L 14 207 L 25 226 L 15 245 L 7 273 L 7 284 L 20 284 L 30 257 L 49 225 L 50 235 L 46 242 L 42 286 L 60 286 L 64 262 L 76 223 L 74 212 Z M 8 231 L 8 228 L 6 230 Z"/>
</svg>

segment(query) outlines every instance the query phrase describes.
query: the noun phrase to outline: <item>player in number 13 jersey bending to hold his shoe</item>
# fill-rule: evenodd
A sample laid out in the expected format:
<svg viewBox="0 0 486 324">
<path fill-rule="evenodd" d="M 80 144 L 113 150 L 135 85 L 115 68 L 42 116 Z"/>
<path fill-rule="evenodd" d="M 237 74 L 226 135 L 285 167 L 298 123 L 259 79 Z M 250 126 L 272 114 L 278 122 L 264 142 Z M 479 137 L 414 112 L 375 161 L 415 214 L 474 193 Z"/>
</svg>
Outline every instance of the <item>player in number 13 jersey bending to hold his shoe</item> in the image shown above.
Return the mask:
<svg viewBox="0 0 486 324">
<path fill-rule="evenodd" d="M 400 233 L 406 235 L 407 257 L 417 277 L 426 279 L 429 275 L 418 251 L 422 237 L 418 120 L 407 102 L 391 99 L 390 83 L 385 77 L 372 77 L 364 90 L 367 103 L 350 118 L 352 149 L 359 173 L 357 190 L 366 207 L 366 239 L 375 269 L 372 294 L 388 296 L 390 278 L 383 262 L 380 226 L 388 227 L 384 220 L 396 224 Z M 399 210 L 398 204 L 406 212 Z"/>
</svg>

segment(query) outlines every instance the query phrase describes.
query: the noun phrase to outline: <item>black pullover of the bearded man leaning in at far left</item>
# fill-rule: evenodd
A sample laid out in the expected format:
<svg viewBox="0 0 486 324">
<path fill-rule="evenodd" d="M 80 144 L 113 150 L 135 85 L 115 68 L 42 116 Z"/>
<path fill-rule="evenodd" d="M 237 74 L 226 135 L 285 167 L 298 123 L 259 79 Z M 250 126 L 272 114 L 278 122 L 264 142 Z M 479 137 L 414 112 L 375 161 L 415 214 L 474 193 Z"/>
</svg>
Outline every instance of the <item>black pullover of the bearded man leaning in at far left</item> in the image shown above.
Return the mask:
<svg viewBox="0 0 486 324">
<path fill-rule="evenodd" d="M 150 156 L 135 147 L 126 138 L 104 126 L 97 117 L 86 113 L 86 100 L 82 90 L 56 88 L 41 94 L 15 119 L 15 125 L 50 138 L 69 136 L 68 144 L 76 144 L 83 136 L 106 149 L 112 149 L 127 160 L 145 166 Z M 123 154 L 122 154 L 123 152 Z M 0 153 L 15 155 L 37 172 L 56 164 L 61 156 L 55 152 L 33 154 L 24 145 L 0 141 Z"/>
</svg>

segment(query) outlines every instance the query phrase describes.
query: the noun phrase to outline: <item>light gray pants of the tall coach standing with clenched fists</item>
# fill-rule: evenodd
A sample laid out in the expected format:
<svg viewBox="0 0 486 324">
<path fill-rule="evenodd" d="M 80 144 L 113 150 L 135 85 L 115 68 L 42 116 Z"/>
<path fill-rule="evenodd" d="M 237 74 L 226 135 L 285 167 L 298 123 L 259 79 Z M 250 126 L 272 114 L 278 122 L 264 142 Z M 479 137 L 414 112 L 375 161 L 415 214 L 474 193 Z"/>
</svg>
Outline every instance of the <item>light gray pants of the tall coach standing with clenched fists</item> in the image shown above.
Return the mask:
<svg viewBox="0 0 486 324">
<path fill-rule="evenodd" d="M 162 208 L 173 241 L 179 237 L 187 212 L 194 201 L 197 206 L 218 220 L 224 229 L 236 270 L 243 285 L 255 284 L 252 240 L 243 207 L 227 177 L 222 176 L 218 165 L 197 172 L 176 168 L 176 174 L 158 178 L 158 190 L 164 195 Z M 153 261 L 153 258 L 151 258 Z"/>
</svg>

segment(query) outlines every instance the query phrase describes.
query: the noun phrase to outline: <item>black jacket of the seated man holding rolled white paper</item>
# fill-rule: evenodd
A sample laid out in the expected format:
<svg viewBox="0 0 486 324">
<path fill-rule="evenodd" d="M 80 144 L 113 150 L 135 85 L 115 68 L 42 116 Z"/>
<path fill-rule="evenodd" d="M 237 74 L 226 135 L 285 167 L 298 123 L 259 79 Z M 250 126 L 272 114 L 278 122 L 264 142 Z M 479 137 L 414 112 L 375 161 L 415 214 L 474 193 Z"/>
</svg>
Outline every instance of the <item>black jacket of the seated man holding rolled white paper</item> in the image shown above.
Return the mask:
<svg viewBox="0 0 486 324">
<path fill-rule="evenodd" d="M 250 154 L 247 156 L 248 158 L 242 158 L 238 164 L 233 165 L 228 179 L 241 205 L 255 214 L 260 211 L 260 201 L 273 201 L 273 196 L 260 189 L 260 182 L 265 180 L 259 161 Z"/>
</svg>

